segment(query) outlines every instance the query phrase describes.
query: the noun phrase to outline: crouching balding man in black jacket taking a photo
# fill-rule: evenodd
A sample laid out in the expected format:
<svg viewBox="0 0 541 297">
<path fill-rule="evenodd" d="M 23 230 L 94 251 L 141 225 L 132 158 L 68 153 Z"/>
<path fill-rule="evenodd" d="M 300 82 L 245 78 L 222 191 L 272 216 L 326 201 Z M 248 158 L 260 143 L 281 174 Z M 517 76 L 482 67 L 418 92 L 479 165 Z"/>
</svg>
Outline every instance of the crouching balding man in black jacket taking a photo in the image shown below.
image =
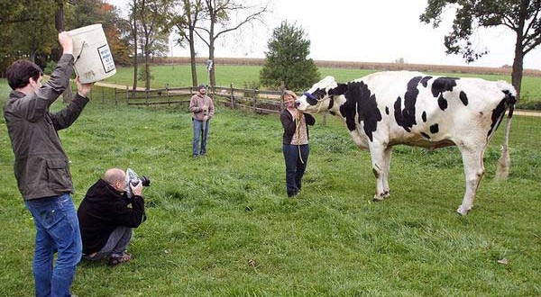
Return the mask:
<svg viewBox="0 0 541 297">
<path fill-rule="evenodd" d="M 132 259 L 126 249 L 133 228 L 146 220 L 142 186 L 149 184 L 129 168 L 111 168 L 88 189 L 77 211 L 84 259 L 108 258 L 110 266 Z"/>
</svg>

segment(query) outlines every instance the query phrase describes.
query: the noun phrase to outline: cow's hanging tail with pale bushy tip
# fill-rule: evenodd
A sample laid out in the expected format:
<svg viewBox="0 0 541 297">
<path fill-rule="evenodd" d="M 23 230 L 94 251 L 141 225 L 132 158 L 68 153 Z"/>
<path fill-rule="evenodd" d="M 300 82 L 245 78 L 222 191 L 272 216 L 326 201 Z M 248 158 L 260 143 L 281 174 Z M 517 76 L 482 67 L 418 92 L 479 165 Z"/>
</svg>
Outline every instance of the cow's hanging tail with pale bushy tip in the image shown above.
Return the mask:
<svg viewBox="0 0 541 297">
<path fill-rule="evenodd" d="M 511 130 L 511 118 L 513 111 L 515 110 L 515 103 L 517 103 L 517 91 L 513 85 L 509 85 L 506 82 L 499 82 L 501 92 L 505 94 L 506 109 L 509 109 L 508 119 L 505 125 L 505 135 L 503 137 L 503 144 L 501 146 L 501 156 L 498 160 L 498 169 L 496 170 L 496 179 L 505 180 L 509 176 L 509 167 L 511 159 L 509 157 L 509 131 Z"/>
</svg>

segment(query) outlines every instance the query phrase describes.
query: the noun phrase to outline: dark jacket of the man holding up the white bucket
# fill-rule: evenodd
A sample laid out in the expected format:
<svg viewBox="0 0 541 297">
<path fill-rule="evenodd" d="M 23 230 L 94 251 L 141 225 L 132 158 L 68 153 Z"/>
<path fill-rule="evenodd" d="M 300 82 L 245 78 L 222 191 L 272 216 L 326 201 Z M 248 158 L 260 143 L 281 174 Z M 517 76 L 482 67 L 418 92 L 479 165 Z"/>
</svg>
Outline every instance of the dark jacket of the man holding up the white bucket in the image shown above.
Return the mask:
<svg viewBox="0 0 541 297">
<path fill-rule="evenodd" d="M 24 200 L 73 193 L 68 157 L 57 130 L 77 120 L 88 99 L 77 94 L 60 112 L 50 104 L 69 85 L 73 56 L 63 55 L 50 80 L 36 92 L 12 91 L 4 107 L 5 124 L 14 150 L 14 175 Z"/>
</svg>

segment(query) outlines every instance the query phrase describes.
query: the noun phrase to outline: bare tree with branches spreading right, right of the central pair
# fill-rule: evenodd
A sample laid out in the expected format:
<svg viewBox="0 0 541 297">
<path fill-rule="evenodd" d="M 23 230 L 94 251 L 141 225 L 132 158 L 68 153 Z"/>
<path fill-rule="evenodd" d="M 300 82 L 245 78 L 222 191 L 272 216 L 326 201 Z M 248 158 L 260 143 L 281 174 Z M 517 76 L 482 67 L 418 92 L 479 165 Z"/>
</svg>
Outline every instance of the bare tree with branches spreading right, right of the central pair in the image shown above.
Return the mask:
<svg viewBox="0 0 541 297">
<path fill-rule="evenodd" d="M 208 59 L 214 61 L 215 41 L 223 34 L 235 31 L 246 23 L 260 20 L 263 14 L 267 13 L 267 4 L 265 5 L 244 5 L 237 4 L 234 0 L 205 0 L 204 7 L 206 12 L 206 21 L 208 27 L 197 26 L 197 36 L 206 43 L 208 47 Z M 233 14 L 239 15 L 237 23 L 232 21 Z M 205 32 L 206 37 L 201 31 Z M 210 85 L 216 85 L 215 67 L 210 69 Z"/>
</svg>

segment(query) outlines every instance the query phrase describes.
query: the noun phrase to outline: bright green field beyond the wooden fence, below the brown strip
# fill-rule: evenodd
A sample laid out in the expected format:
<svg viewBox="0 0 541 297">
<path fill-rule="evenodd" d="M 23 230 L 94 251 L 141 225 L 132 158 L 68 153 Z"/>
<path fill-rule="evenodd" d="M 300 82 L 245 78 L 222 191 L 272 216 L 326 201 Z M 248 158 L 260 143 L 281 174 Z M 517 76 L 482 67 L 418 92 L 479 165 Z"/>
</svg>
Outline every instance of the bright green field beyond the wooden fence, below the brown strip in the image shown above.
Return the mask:
<svg viewBox="0 0 541 297">
<path fill-rule="evenodd" d="M 261 67 L 259 66 L 240 66 L 240 65 L 218 65 L 216 67 L 216 85 L 229 86 L 234 84 L 234 87 L 244 87 L 245 85 L 252 85 L 254 82 L 259 81 L 259 72 Z M 159 65 L 151 67 L 151 75 L 153 80 L 151 81 L 152 88 L 162 88 L 166 84 L 170 86 L 188 86 L 191 85 L 189 65 Z M 330 68 L 319 67 L 319 73 L 321 77 L 335 76 L 336 81 L 346 82 L 369 75 L 376 70 L 368 69 L 351 69 L 351 68 Z M 510 82 L 510 76 L 500 75 L 475 75 L 475 74 L 458 74 L 458 73 L 432 73 L 426 72 L 432 75 L 440 76 L 463 76 L 463 77 L 481 77 L 487 80 L 506 80 Z M 208 84 L 208 74 L 206 68 L 203 65 L 197 67 L 198 82 Z M 117 73 L 106 79 L 106 83 L 114 83 L 118 85 L 132 85 L 133 84 L 133 68 L 132 67 L 119 67 Z M 138 86 L 144 87 L 144 82 L 139 82 Z M 522 94 L 521 103 L 538 103 L 541 108 L 541 76 L 524 76 L 522 79 Z M 525 106 L 527 108 L 527 106 Z"/>
</svg>

